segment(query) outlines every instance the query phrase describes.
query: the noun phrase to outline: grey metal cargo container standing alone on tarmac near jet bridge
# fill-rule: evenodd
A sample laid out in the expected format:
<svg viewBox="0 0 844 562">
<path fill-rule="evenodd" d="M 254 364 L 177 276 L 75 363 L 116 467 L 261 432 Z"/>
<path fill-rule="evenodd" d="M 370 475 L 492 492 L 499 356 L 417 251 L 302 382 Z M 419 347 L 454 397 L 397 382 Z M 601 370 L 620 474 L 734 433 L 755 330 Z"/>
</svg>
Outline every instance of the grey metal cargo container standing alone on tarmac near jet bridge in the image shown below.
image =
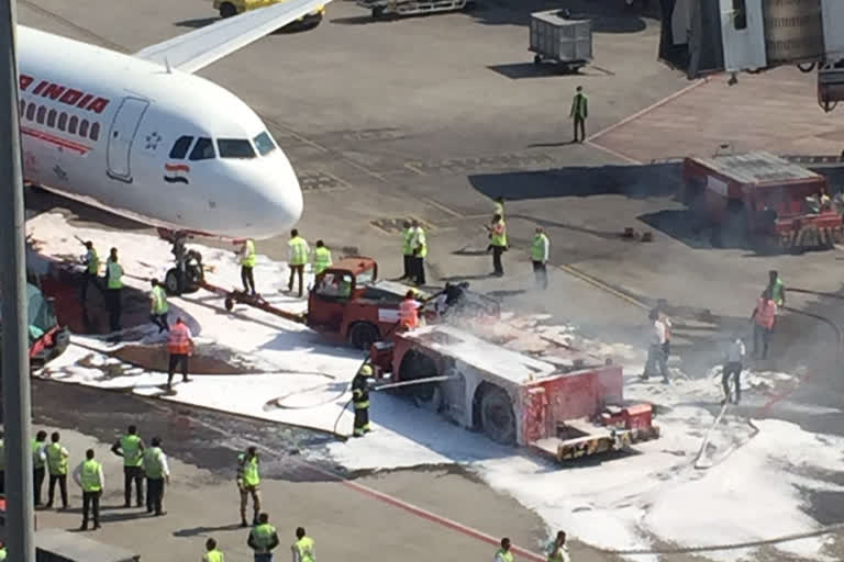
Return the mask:
<svg viewBox="0 0 844 562">
<path fill-rule="evenodd" d="M 530 50 L 536 64 L 554 60 L 569 69 L 580 68 L 592 59 L 592 23 L 569 20 L 560 10 L 532 13 Z"/>
</svg>

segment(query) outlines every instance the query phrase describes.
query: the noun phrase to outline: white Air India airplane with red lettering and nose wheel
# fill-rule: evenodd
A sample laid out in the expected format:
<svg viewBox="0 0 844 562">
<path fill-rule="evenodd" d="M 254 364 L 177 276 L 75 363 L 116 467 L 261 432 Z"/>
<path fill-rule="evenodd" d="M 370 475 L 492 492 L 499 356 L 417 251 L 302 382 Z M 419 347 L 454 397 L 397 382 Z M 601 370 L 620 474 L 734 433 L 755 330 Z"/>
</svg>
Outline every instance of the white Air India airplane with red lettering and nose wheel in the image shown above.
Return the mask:
<svg viewBox="0 0 844 562">
<path fill-rule="evenodd" d="M 133 55 L 19 25 L 24 180 L 155 226 L 174 245 L 168 291 L 196 291 L 201 256 L 187 237 L 269 238 L 303 202 L 260 117 L 193 72 L 325 3 L 244 12 Z"/>
</svg>

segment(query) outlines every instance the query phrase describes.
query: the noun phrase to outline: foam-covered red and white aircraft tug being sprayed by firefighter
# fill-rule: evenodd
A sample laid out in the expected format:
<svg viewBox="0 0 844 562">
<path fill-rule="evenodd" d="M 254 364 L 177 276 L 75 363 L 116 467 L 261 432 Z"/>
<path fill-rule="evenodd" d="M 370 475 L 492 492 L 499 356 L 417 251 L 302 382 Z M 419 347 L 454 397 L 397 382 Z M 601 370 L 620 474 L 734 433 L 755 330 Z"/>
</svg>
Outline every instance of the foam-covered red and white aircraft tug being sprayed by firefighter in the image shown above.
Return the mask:
<svg viewBox="0 0 844 562">
<path fill-rule="evenodd" d="M 659 436 L 651 404 L 625 404 L 621 367 L 560 369 L 447 325 L 397 334 L 370 350 L 376 376 L 431 378 L 399 392 L 503 443 L 560 462 Z"/>
</svg>

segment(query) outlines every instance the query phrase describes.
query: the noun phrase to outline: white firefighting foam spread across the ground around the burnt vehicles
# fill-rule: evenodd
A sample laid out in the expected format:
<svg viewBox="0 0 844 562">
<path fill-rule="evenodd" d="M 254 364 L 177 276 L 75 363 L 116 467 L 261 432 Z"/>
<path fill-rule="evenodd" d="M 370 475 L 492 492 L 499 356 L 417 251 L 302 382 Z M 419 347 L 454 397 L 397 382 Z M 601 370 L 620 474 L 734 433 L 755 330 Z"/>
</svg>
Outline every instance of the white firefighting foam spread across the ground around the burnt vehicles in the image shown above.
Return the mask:
<svg viewBox="0 0 844 562">
<path fill-rule="evenodd" d="M 30 221 L 27 232 L 38 243 L 38 251 L 51 257 L 78 255 L 79 244 L 74 235 L 91 239 L 100 248 L 120 247 L 126 282 L 137 289 L 145 290 L 145 279 L 160 277 L 167 268 L 168 246 L 151 236 L 76 228 L 55 214 Z M 210 274 L 212 282 L 238 284 L 231 252 L 209 248 L 202 251 L 209 262 L 216 265 L 216 271 Z M 285 273 L 284 263 L 262 258 L 256 271 L 259 290 L 268 292 L 262 283 L 268 279 L 280 282 Z M 279 301 L 289 310 L 303 306 L 301 301 Z M 204 292 L 174 299 L 171 304 L 190 318 L 201 341 L 246 355 L 270 372 L 193 376 L 189 384 L 177 382 L 175 395 L 167 400 L 333 429 L 348 401 L 346 385 L 360 361 L 359 353 L 325 346 L 302 326 L 258 311 L 238 307 L 236 314 L 229 315 L 219 299 Z M 644 359 L 638 350 L 577 338 L 570 327 L 534 326 L 536 330 L 576 347 L 584 355 L 612 356 L 628 367 L 640 366 L 631 367 L 626 375 L 625 396 L 660 405 L 656 423 L 662 437 L 636 446 L 637 454 L 562 469 L 497 446 L 398 398 L 374 393 L 373 434 L 330 445 L 326 450 L 304 451 L 306 454 L 329 458 L 349 470 L 459 463 L 493 488 L 535 510 L 549 531 L 563 528 L 582 542 L 613 551 L 647 550 L 655 542 L 681 549 L 811 532 L 820 524 L 809 513 L 808 492 L 844 491 L 819 476 L 841 471 L 844 439 L 804 431 L 786 422 L 749 423 L 735 409 L 728 411 L 721 423 L 713 425 L 721 398 L 717 376 L 691 381 L 677 378 L 668 386 L 641 383 L 633 374 L 641 370 Z M 511 340 L 509 347 L 538 345 L 531 337 Z M 147 341 L 156 338 L 153 330 L 144 336 Z M 107 369 L 120 366 L 119 360 L 103 355 L 110 349 L 109 344 L 97 338 L 74 339 L 77 344 L 42 375 L 160 394 L 158 385 L 165 382 L 166 374 L 127 366 L 122 371 Z M 789 374 L 773 372 L 745 376 L 742 412 L 763 405 L 767 400 L 763 395 L 765 389 L 789 383 L 791 379 Z M 279 397 L 285 407 L 278 407 L 275 398 Z M 798 406 L 782 403 L 778 407 Z M 799 407 L 811 409 L 806 405 Z M 341 416 L 338 431 L 351 431 L 348 414 Z M 704 441 L 708 446 L 701 448 Z M 825 541 L 821 536 L 780 542 L 774 548 L 786 555 L 823 560 Z M 732 561 L 753 558 L 754 552 L 754 548 L 746 548 L 703 555 Z M 652 554 L 628 555 L 634 560 L 656 560 Z"/>
</svg>

